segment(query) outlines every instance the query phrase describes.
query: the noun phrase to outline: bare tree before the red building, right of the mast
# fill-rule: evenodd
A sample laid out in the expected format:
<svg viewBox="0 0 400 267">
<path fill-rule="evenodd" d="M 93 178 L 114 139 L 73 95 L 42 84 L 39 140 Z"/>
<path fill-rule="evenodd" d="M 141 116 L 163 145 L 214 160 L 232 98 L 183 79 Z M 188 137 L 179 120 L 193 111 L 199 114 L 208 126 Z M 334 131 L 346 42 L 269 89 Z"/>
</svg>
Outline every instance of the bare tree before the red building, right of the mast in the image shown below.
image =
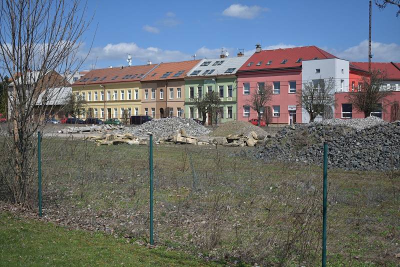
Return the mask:
<svg viewBox="0 0 400 267">
<path fill-rule="evenodd" d="M 392 88 L 382 86 L 384 79 L 383 71 L 373 69 L 362 77 L 358 89 L 346 97 L 352 107 L 364 113 L 364 117 L 370 116 L 379 106 L 384 108 L 388 104 L 385 98 L 392 94 Z"/>
</svg>

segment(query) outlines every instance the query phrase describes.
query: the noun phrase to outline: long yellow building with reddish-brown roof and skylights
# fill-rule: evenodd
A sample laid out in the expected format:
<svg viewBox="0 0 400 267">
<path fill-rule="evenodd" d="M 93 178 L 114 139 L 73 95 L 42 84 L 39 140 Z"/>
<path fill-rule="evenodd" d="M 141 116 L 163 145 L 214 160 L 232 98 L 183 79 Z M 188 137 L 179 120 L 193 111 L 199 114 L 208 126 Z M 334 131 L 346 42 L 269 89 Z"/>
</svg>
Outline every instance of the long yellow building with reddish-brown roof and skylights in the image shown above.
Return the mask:
<svg viewBox="0 0 400 267">
<path fill-rule="evenodd" d="M 81 118 L 119 118 L 140 115 L 142 90 L 140 79 L 156 64 L 93 69 L 76 80 L 72 92 L 85 101 Z M 105 115 L 105 118 L 104 118 Z"/>
</svg>

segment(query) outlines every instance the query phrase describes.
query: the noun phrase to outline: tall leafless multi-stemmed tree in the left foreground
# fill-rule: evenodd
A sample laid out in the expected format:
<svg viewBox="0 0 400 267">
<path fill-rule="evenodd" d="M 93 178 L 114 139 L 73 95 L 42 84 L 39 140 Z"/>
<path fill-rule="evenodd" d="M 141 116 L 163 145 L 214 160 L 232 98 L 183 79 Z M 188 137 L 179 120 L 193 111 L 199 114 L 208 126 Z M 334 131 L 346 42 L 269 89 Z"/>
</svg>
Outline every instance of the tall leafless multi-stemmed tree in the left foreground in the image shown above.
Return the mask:
<svg viewBox="0 0 400 267">
<path fill-rule="evenodd" d="M 56 72 L 74 73 L 84 58 L 78 56 L 83 32 L 87 29 L 87 8 L 79 0 L 2 0 L 0 3 L 0 78 L 11 78 L 9 103 L 8 164 L 12 173 L 3 173 L 16 204 L 30 206 L 36 193 L 36 113 L 48 111 L 45 99 L 56 97 L 50 88 L 63 86 L 47 78 Z M 66 80 L 65 80 L 66 84 Z M 39 99 L 42 92 L 46 95 Z M 41 105 L 36 103 L 40 101 Z M 1 171 L 1 170 L 0 170 Z"/>
</svg>

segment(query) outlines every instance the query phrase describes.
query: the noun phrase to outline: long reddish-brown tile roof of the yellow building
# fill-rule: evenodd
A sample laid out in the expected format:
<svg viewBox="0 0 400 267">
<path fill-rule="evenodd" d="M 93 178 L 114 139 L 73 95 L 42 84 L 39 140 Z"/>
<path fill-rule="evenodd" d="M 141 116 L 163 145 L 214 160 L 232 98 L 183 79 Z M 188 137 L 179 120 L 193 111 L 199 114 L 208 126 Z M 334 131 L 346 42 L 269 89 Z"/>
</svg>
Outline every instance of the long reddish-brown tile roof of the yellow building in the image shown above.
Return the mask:
<svg viewBox="0 0 400 267">
<path fill-rule="evenodd" d="M 155 66 L 157 66 L 157 64 L 124 66 L 122 69 L 120 67 L 92 69 L 80 79 L 76 80 L 72 85 L 139 81 L 142 76 Z"/>
</svg>

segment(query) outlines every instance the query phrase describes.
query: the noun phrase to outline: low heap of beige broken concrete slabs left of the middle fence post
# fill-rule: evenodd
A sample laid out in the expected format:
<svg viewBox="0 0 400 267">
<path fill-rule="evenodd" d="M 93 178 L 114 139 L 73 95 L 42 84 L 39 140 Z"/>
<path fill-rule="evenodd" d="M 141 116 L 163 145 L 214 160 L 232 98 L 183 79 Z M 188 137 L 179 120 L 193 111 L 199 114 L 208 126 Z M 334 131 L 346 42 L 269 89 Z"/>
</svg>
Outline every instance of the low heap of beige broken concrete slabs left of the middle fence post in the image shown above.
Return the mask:
<svg viewBox="0 0 400 267">
<path fill-rule="evenodd" d="M 123 134 L 119 133 L 106 133 L 103 135 L 90 135 L 87 137 L 88 140 L 95 141 L 96 145 L 99 146 L 100 144 L 147 144 L 146 137 L 137 137 L 133 134 L 126 132 Z"/>
</svg>

